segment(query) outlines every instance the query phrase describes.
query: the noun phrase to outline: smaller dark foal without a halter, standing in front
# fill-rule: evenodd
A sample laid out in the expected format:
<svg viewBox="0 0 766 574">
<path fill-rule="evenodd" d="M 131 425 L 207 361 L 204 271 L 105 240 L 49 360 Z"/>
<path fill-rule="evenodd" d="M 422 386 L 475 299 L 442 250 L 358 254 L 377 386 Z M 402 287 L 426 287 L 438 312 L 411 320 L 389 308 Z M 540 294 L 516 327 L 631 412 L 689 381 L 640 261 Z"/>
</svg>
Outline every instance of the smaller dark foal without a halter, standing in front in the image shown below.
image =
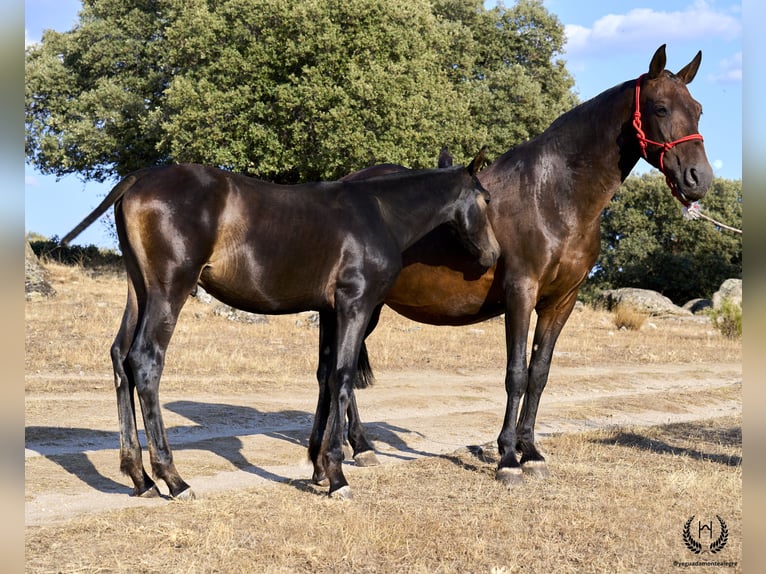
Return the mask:
<svg viewBox="0 0 766 574">
<path fill-rule="evenodd" d="M 246 311 L 320 313 L 320 370 L 310 452 L 330 494 L 351 491 L 342 433 L 364 337 L 374 328 L 402 251 L 442 224 L 491 267 L 499 245 L 489 196 L 468 168 L 395 173 L 357 182 L 276 185 L 201 165 L 148 168 L 127 176 L 62 240 L 71 241 L 112 204 L 128 299 L 111 348 L 120 425 L 120 468 L 135 495 L 156 496 L 136 427 L 138 394 L 154 477 L 174 498 L 193 497 L 178 474 L 159 403 L 165 352 L 178 315 L 199 284 Z"/>
</svg>

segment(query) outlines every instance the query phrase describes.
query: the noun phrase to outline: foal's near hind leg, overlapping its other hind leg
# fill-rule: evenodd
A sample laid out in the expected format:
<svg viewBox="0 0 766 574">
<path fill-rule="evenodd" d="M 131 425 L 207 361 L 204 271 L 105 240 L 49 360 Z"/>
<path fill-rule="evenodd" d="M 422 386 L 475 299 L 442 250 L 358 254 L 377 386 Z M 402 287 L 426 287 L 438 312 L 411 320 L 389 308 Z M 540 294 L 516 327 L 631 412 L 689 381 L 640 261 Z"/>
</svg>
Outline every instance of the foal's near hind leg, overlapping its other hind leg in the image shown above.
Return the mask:
<svg viewBox="0 0 766 574">
<path fill-rule="evenodd" d="M 140 313 L 136 336 L 128 351 L 127 365 L 136 384 L 152 472 L 168 485 L 173 498 L 193 498 L 194 493 L 176 471 L 173 453 L 168 444 L 159 403 L 159 384 L 165 365 L 165 351 L 173 334 L 178 314 L 191 292 L 178 282 L 176 295 L 169 296 L 158 289 L 147 292 L 146 304 Z"/>
</svg>

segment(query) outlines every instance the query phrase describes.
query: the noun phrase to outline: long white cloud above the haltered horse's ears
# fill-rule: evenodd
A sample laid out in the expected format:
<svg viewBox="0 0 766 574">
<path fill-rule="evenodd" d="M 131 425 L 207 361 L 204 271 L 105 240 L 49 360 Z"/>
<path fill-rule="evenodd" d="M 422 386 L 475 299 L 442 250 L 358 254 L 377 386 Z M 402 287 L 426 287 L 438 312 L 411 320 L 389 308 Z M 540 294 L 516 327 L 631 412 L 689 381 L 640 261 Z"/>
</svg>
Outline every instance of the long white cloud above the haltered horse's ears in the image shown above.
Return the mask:
<svg viewBox="0 0 766 574">
<path fill-rule="evenodd" d="M 738 16 L 738 14 L 737 14 Z M 607 14 L 590 28 L 567 25 L 564 28 L 566 54 L 578 56 L 597 52 L 628 51 L 647 45 L 696 38 L 736 38 L 742 23 L 730 11 L 716 11 L 704 0 L 684 10 L 657 11 L 636 8 L 626 14 Z"/>
</svg>

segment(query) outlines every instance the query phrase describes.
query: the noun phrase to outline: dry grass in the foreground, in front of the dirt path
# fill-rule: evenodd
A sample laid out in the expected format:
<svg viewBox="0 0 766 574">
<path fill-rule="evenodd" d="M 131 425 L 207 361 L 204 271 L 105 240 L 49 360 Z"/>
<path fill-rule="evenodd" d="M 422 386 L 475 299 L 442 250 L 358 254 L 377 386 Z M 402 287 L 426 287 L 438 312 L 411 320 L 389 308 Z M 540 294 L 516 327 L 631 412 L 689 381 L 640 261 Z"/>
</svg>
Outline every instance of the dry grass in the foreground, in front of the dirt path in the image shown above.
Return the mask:
<svg viewBox="0 0 766 574">
<path fill-rule="evenodd" d="M 27 571 L 579 574 L 740 563 L 740 428 L 718 419 L 550 437 L 553 477 L 511 492 L 494 481 L 493 457 L 463 450 L 357 472 L 350 503 L 299 481 L 87 517 L 28 529 Z M 684 523 L 716 514 L 727 546 L 695 556 Z"/>
</svg>

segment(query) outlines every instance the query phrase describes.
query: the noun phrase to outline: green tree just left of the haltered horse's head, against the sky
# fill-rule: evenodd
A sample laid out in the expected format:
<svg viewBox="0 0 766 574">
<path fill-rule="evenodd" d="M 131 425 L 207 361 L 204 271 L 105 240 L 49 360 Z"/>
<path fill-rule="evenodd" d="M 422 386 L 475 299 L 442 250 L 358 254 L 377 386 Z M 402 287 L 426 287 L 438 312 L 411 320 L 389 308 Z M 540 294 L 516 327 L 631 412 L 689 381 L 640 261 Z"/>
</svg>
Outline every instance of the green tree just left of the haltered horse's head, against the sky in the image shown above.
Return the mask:
<svg viewBox="0 0 766 574">
<path fill-rule="evenodd" d="M 453 80 L 464 86 L 474 129 L 490 154 L 543 132 L 574 107 L 573 80 L 563 60 L 564 28 L 542 2 L 483 9 L 483 0 L 436 0 L 434 11 L 470 30 L 471 42 L 453 42 Z M 607 87 L 607 86 L 605 86 Z"/>
</svg>

